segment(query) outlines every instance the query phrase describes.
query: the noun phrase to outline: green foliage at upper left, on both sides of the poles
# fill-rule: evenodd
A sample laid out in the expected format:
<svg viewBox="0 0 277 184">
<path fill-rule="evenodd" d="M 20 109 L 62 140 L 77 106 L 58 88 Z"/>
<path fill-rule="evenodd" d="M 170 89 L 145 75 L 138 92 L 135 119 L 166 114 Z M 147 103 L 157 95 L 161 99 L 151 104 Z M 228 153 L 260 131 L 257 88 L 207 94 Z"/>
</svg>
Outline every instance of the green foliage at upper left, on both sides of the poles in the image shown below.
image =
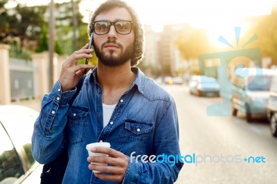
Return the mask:
<svg viewBox="0 0 277 184">
<path fill-rule="evenodd" d="M 37 53 L 48 50 L 48 22 L 45 19 L 48 6 L 27 7 L 18 4 L 12 10 L 6 10 L 4 5 L 7 2 L 8 0 L 0 0 L 0 43 L 16 45 L 13 46 L 16 49 L 10 52 L 12 55 L 22 55 L 26 53 L 25 50 Z M 87 24 L 82 22 L 83 17 L 78 8 L 80 0 L 74 3 L 76 24 L 73 24 L 71 2 L 55 4 L 55 52 L 60 55 L 71 55 L 75 51 L 73 49 L 73 25 L 76 26 L 76 48 L 80 49 L 89 42 Z M 90 62 L 96 64 L 95 55 Z"/>
</svg>

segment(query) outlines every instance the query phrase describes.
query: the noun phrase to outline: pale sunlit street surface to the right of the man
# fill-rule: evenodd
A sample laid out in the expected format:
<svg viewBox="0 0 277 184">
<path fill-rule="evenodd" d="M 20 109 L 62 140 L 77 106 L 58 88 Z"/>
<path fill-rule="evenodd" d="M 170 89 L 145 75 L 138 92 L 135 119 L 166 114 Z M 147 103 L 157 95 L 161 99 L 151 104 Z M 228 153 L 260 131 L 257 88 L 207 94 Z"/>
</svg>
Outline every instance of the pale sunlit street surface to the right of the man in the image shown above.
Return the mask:
<svg viewBox="0 0 277 184">
<path fill-rule="evenodd" d="M 164 87 L 177 104 L 181 156 L 195 154 L 199 161 L 184 163 L 176 183 L 277 182 L 277 139 L 266 120 L 207 116 L 208 105 L 222 98 L 190 95 L 186 85 Z"/>
</svg>

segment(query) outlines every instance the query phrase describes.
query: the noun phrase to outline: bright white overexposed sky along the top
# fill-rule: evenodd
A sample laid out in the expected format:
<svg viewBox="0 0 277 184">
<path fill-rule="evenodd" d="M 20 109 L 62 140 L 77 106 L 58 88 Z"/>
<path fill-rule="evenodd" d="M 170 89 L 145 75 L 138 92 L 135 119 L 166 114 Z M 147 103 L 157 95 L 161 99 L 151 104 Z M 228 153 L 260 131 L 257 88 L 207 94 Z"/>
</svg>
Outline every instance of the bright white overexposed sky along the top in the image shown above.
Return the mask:
<svg viewBox="0 0 277 184">
<path fill-rule="evenodd" d="M 57 3 L 71 0 L 54 0 Z M 143 24 L 160 32 L 164 24 L 188 23 L 194 28 L 206 28 L 210 39 L 219 35 L 234 35 L 234 27 L 244 28 L 244 18 L 269 15 L 277 0 L 125 0 L 134 7 Z M 21 0 L 27 6 L 47 4 L 50 0 Z M 103 0 L 82 0 L 80 4 L 84 21 L 89 12 Z M 12 6 L 12 1 L 10 1 Z"/>
</svg>

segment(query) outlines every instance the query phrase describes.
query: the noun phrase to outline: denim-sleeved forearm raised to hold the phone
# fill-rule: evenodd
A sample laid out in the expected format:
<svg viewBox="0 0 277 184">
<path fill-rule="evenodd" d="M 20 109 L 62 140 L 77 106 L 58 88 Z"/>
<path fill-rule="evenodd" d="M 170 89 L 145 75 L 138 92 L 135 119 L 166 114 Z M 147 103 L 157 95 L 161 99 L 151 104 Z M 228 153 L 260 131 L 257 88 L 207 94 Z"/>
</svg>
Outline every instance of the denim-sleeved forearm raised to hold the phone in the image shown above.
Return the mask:
<svg viewBox="0 0 277 184">
<path fill-rule="evenodd" d="M 35 121 L 32 136 L 32 152 L 39 163 L 49 163 L 56 158 L 66 143 L 66 113 L 75 90 L 62 93 L 56 82 L 51 93 L 44 95 L 42 110 Z"/>
</svg>

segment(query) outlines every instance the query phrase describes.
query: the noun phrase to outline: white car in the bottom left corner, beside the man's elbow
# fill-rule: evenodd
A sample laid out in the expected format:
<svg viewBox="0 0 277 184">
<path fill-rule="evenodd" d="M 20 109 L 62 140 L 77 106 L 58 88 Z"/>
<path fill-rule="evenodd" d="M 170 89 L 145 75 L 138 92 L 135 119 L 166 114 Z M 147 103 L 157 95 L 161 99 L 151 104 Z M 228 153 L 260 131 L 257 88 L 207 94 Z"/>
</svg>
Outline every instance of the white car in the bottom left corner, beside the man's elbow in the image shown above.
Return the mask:
<svg viewBox="0 0 277 184">
<path fill-rule="evenodd" d="M 33 158 L 31 136 L 39 113 L 28 107 L 0 105 L 0 183 L 40 183 L 42 165 Z"/>
</svg>

